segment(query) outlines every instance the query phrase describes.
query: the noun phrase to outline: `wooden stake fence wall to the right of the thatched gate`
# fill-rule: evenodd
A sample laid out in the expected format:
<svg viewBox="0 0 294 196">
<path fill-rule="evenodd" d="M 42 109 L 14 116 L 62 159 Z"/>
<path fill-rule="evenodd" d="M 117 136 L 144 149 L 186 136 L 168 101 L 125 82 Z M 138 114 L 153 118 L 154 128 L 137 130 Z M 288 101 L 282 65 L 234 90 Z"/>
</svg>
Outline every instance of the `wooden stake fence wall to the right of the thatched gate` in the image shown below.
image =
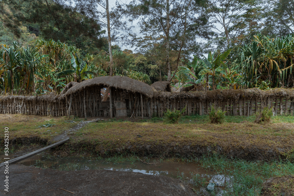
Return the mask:
<svg viewBox="0 0 294 196">
<path fill-rule="evenodd" d="M 268 98 L 241 98 L 228 100 L 201 100 L 201 99 L 166 99 L 153 98 L 151 100 L 151 115 L 163 116 L 163 113 L 170 110 L 182 110 L 186 106 L 184 115 L 207 115 L 211 105 L 220 107 L 227 115 L 249 116 L 263 110 L 272 108 L 273 115 L 294 115 L 293 98 L 288 99 L 282 96 Z"/>
</svg>

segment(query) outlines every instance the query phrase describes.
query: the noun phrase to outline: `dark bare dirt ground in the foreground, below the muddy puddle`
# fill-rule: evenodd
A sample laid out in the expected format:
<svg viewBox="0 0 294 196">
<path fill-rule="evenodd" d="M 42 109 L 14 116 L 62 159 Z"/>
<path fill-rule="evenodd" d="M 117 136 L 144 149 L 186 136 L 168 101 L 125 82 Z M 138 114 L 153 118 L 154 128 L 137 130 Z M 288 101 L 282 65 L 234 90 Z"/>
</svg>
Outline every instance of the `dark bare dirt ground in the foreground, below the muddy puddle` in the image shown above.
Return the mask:
<svg viewBox="0 0 294 196">
<path fill-rule="evenodd" d="M 0 179 L 5 179 L 4 167 L 0 170 Z M 1 181 L 1 186 L 4 187 L 4 181 Z M 195 195 L 195 193 L 181 180 L 166 176 L 110 170 L 42 170 L 32 166 L 10 165 L 9 192 L 2 188 L 0 195 Z"/>
</svg>

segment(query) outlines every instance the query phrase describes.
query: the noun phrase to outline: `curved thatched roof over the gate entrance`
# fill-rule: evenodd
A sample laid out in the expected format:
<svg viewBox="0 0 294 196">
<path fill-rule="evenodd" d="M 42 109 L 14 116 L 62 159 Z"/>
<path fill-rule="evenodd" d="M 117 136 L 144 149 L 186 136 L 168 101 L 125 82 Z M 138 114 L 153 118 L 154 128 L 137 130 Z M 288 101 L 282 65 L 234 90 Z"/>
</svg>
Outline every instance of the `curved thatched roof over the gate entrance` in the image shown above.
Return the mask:
<svg viewBox="0 0 294 196">
<path fill-rule="evenodd" d="M 82 81 L 81 83 L 76 84 L 71 87 L 66 93 L 65 96 L 68 96 L 72 93 L 82 91 L 84 88 L 92 86 L 104 86 L 104 87 L 115 87 L 131 91 L 133 93 L 141 93 L 148 97 L 153 97 L 153 89 L 146 83 L 131 79 L 126 76 L 99 76 L 93 79 L 88 79 Z"/>
</svg>

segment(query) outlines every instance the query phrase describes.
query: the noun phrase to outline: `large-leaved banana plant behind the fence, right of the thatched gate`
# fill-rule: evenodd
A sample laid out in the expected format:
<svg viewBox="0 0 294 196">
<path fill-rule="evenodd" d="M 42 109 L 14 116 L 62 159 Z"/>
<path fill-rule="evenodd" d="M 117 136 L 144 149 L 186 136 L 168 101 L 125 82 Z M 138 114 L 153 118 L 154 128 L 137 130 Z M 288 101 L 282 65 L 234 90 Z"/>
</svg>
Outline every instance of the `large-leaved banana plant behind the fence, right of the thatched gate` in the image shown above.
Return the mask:
<svg viewBox="0 0 294 196">
<path fill-rule="evenodd" d="M 201 71 L 199 71 L 199 75 L 211 75 L 212 76 L 212 88 L 213 90 L 216 90 L 216 85 L 215 85 L 215 76 L 216 74 L 220 73 L 221 70 L 224 70 L 228 68 L 226 66 L 226 63 L 224 63 L 225 58 L 229 55 L 231 49 L 228 49 L 222 54 L 218 54 L 216 58 L 213 58 L 215 56 L 214 52 L 212 54 L 211 51 L 208 53 L 208 58 L 204 56 L 203 62 L 205 63 L 205 66 L 201 67 Z"/>
</svg>

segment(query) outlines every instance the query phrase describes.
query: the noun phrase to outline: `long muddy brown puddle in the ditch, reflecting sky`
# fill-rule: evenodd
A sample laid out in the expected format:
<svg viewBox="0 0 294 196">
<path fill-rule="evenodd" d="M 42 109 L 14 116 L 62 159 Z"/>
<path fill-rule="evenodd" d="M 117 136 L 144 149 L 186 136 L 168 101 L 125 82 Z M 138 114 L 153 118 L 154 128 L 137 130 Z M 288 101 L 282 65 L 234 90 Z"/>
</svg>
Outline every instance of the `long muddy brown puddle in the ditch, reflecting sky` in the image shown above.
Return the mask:
<svg viewBox="0 0 294 196">
<path fill-rule="evenodd" d="M 106 159 L 90 158 L 48 158 L 46 156 L 35 155 L 19 162 L 26 166 L 37 166 L 43 169 L 54 170 L 114 170 L 127 172 L 140 172 L 148 175 L 165 175 L 172 178 L 181 178 L 186 181 L 196 191 L 206 192 L 206 187 L 202 187 L 201 182 L 218 182 L 216 186 L 218 192 L 222 192 L 230 178 L 211 170 L 206 170 L 197 163 L 179 163 L 177 161 L 162 161 L 152 159 L 148 165 L 139 161 L 133 163 L 107 163 Z M 206 183 L 208 185 L 208 183 Z"/>
</svg>

